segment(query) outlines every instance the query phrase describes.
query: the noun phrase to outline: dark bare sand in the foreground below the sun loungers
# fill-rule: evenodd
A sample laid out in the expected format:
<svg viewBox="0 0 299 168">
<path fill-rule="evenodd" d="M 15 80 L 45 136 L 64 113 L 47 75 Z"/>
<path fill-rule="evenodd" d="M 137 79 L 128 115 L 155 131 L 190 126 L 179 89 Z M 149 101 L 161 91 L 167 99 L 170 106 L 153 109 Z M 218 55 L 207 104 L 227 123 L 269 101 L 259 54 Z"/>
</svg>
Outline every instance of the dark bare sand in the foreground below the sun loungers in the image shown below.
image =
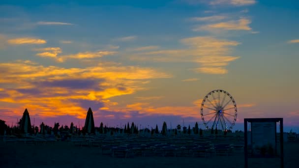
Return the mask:
<svg viewBox="0 0 299 168">
<path fill-rule="evenodd" d="M 299 142 L 284 144 L 285 168 L 298 168 Z M 99 147 L 72 142 L 15 144 L 0 142 L 0 168 L 244 168 L 243 153 L 212 157 L 135 156 L 113 158 Z M 279 168 L 279 158 L 249 158 L 249 168 Z"/>
</svg>

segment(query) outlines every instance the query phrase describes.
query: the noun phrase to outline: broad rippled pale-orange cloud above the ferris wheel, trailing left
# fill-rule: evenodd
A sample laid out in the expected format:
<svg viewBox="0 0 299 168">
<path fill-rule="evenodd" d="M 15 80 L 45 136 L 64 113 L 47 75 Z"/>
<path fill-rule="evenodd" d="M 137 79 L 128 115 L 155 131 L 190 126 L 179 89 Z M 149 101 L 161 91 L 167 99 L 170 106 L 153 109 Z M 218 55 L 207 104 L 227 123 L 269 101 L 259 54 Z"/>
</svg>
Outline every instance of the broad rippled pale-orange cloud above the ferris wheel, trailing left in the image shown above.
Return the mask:
<svg viewBox="0 0 299 168">
<path fill-rule="evenodd" d="M 130 56 L 130 59 L 158 62 L 196 62 L 201 67 L 195 68 L 195 72 L 225 74 L 228 73 L 225 66 L 239 58 L 239 56 L 228 56 L 232 47 L 240 44 L 237 41 L 217 39 L 212 36 L 196 36 L 181 39 L 180 43 L 184 44 L 186 48 L 141 52 Z"/>
</svg>

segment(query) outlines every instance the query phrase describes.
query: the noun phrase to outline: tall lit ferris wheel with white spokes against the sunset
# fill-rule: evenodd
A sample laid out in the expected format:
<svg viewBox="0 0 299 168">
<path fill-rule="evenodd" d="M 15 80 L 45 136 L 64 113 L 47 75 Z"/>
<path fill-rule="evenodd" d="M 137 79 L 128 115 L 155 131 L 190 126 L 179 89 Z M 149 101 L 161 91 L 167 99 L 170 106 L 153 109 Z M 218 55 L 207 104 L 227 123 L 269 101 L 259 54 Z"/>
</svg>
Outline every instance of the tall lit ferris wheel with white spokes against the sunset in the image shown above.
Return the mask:
<svg viewBox="0 0 299 168">
<path fill-rule="evenodd" d="M 224 90 L 210 91 L 204 98 L 200 111 L 207 129 L 230 130 L 237 120 L 236 102 Z"/>
</svg>

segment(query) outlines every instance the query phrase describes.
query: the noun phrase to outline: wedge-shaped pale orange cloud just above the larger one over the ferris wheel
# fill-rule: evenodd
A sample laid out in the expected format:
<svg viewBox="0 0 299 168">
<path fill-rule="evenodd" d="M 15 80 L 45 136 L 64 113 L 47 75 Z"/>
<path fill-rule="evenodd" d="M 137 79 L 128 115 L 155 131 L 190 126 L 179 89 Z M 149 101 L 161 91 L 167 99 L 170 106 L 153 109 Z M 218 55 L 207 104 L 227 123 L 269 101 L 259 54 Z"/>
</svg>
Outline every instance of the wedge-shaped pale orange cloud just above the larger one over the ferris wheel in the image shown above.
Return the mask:
<svg viewBox="0 0 299 168">
<path fill-rule="evenodd" d="M 248 26 L 251 23 L 248 19 L 239 19 L 238 21 L 220 22 L 216 24 L 209 24 L 194 28 L 193 31 L 210 30 L 210 29 L 224 29 L 224 30 L 251 30 Z"/>
</svg>

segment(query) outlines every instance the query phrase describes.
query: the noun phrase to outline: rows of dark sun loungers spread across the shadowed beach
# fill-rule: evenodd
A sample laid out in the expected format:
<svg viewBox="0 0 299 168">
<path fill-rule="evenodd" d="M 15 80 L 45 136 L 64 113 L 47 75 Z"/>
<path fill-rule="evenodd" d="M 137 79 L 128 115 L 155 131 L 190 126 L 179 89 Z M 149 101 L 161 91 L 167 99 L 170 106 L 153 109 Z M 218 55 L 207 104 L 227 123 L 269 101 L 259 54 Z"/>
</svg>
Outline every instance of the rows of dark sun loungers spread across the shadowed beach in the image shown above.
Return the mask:
<svg viewBox="0 0 299 168">
<path fill-rule="evenodd" d="M 173 156 L 173 157 L 212 157 L 216 155 L 228 156 L 242 151 L 244 144 L 240 141 L 213 140 L 196 138 L 127 138 L 127 137 L 73 137 L 65 140 L 70 145 L 98 147 L 103 155 L 112 157 L 134 156 Z M 57 141 L 50 137 L 27 137 L 22 139 L 6 138 L 6 143 L 47 144 Z M 219 143 L 222 142 L 222 143 Z M 223 144 L 223 142 L 226 142 Z"/>
</svg>

